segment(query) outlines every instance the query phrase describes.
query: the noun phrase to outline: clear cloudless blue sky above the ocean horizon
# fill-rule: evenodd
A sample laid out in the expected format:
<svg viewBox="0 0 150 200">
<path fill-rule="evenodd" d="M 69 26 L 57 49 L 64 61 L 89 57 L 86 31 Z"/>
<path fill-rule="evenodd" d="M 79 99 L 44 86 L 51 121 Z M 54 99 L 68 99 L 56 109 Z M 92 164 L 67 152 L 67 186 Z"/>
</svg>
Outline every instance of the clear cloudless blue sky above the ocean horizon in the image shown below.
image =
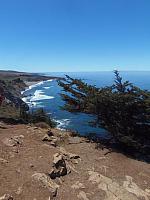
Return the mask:
<svg viewBox="0 0 150 200">
<path fill-rule="evenodd" d="M 150 70 L 150 0 L 0 0 L 0 69 Z"/>
</svg>

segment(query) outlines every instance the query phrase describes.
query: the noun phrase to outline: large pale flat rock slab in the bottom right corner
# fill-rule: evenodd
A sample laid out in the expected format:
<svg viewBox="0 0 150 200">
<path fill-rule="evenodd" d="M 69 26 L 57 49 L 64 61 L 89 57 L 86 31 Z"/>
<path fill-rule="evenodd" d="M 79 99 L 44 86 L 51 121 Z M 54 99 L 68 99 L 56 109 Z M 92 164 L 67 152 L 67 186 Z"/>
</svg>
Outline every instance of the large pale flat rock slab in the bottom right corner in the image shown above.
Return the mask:
<svg viewBox="0 0 150 200">
<path fill-rule="evenodd" d="M 106 193 L 106 198 L 104 200 L 149 200 L 150 193 L 134 183 L 130 176 L 126 176 L 123 185 L 120 185 L 113 179 L 94 171 L 89 171 L 89 175 L 89 181 L 93 184 L 98 184 L 98 189 Z"/>
</svg>

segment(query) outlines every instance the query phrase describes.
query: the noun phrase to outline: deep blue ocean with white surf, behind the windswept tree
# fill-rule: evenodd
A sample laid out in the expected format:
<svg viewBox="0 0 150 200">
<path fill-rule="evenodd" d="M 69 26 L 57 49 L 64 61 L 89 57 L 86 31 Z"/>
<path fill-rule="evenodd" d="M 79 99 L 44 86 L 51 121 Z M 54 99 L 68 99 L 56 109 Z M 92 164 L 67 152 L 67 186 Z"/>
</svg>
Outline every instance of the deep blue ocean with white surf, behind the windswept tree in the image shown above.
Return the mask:
<svg viewBox="0 0 150 200">
<path fill-rule="evenodd" d="M 80 78 L 83 81 L 101 86 L 109 86 L 114 82 L 113 72 L 51 72 L 42 73 L 49 76 L 64 77 L 65 74 Z M 149 72 L 121 72 L 123 80 L 129 80 L 136 86 L 150 90 L 150 71 Z M 60 93 L 62 88 L 58 86 L 56 80 L 42 81 L 38 84 L 30 86 L 23 94 L 23 100 L 28 103 L 31 110 L 43 108 L 46 113 L 57 122 L 57 128 L 73 130 L 81 135 L 97 134 L 100 137 L 107 137 L 108 133 L 102 128 L 91 127 L 89 122 L 95 119 L 92 115 L 72 114 L 62 110 L 60 107 L 64 105 Z"/>
</svg>

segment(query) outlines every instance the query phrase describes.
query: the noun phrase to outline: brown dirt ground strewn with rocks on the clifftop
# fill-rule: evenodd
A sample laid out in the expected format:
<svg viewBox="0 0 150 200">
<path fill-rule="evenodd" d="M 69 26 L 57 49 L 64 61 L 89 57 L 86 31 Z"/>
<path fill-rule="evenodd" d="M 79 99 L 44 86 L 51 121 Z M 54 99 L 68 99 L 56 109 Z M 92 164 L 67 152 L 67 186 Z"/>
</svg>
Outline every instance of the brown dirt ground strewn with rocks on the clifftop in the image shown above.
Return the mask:
<svg viewBox="0 0 150 200">
<path fill-rule="evenodd" d="M 57 145 L 42 140 L 46 129 L 0 124 L 0 200 L 150 199 L 150 164 L 52 133 Z M 69 171 L 51 179 L 55 155 L 67 158 Z"/>
</svg>

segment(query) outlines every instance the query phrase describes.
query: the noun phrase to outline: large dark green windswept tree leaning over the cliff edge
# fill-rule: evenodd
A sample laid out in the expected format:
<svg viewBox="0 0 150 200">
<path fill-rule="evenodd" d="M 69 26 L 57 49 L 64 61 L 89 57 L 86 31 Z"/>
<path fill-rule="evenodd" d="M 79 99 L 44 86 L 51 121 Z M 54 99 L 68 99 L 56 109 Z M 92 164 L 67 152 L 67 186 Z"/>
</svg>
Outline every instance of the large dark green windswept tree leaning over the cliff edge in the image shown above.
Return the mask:
<svg viewBox="0 0 150 200">
<path fill-rule="evenodd" d="M 96 88 L 69 76 L 59 81 L 65 93 L 64 109 L 97 116 L 96 124 L 108 130 L 124 147 L 150 153 L 150 92 L 128 81 L 114 71 L 110 87 Z"/>
</svg>

